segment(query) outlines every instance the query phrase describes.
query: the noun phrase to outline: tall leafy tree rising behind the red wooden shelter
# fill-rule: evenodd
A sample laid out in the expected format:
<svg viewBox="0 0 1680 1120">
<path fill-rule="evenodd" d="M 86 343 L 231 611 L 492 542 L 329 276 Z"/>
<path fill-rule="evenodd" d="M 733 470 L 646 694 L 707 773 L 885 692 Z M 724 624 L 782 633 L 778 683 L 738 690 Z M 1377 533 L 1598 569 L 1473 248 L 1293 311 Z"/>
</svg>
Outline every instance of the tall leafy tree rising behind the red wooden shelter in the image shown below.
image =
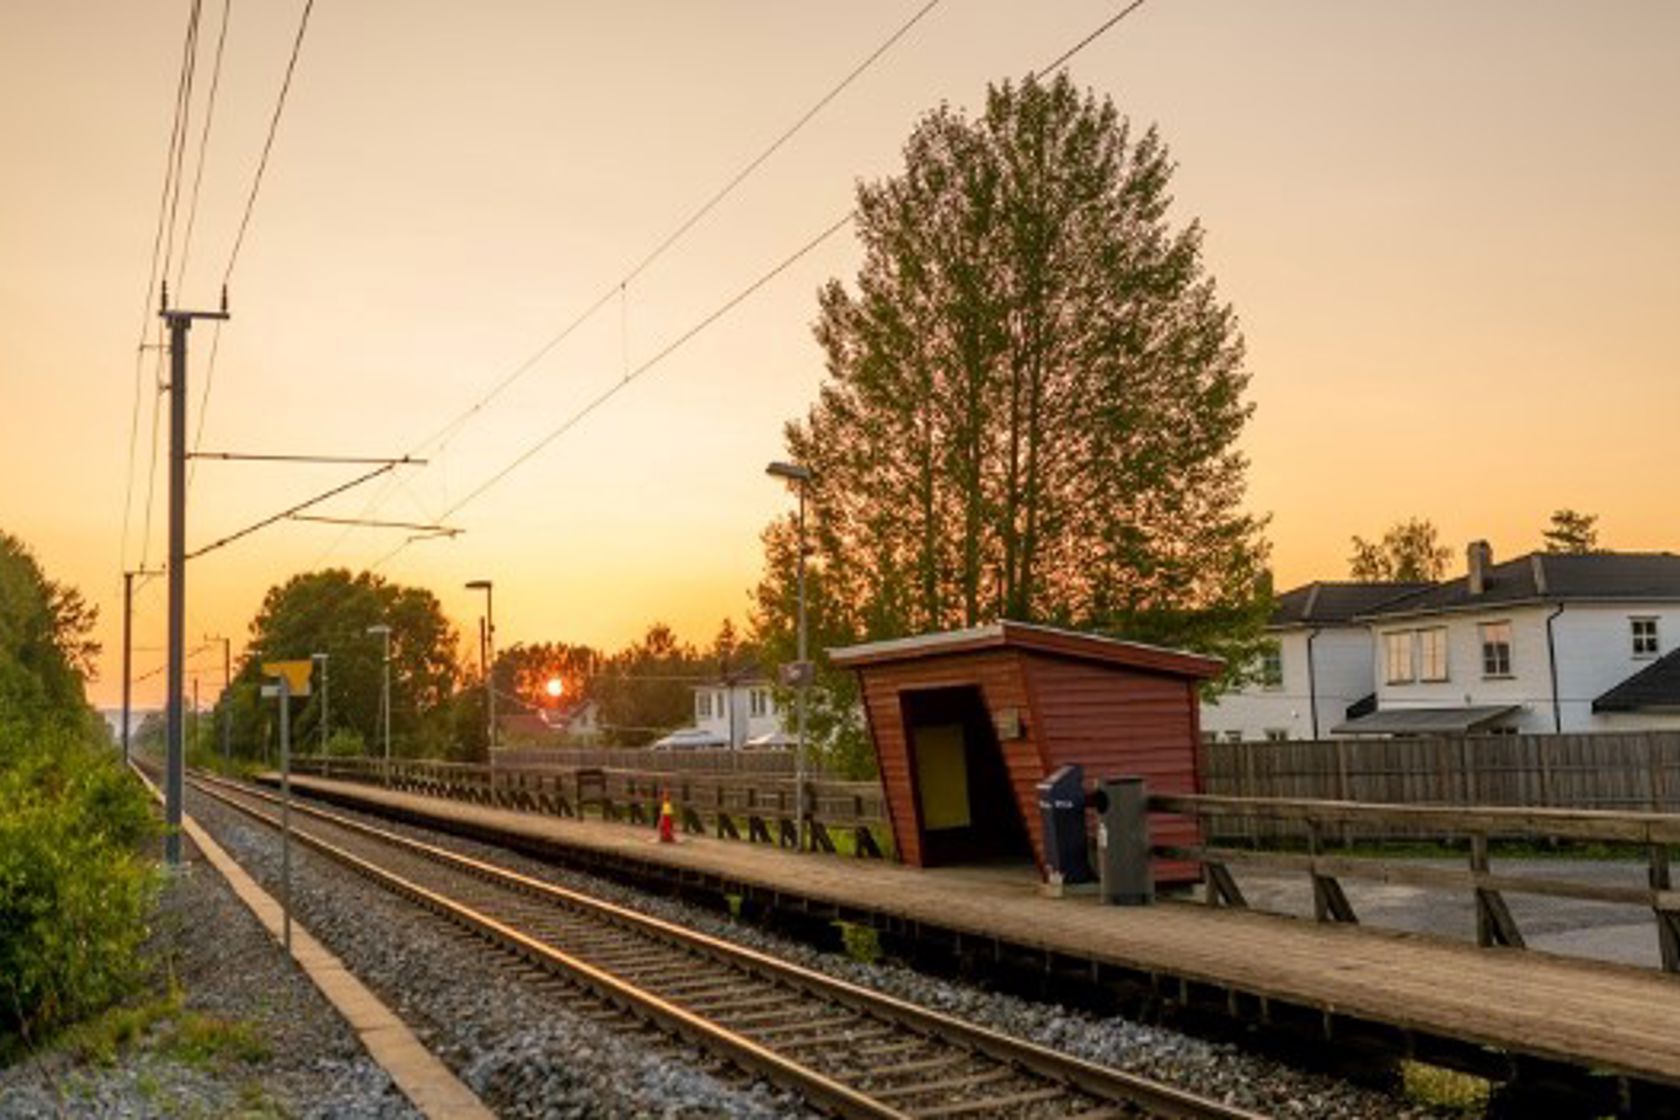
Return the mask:
<svg viewBox="0 0 1680 1120">
<path fill-rule="evenodd" d="M 1057 76 L 929 113 L 904 170 L 860 185 L 864 264 L 820 294 L 828 379 L 786 430 L 825 628 L 1008 616 L 1258 648 L 1243 343 L 1201 228 L 1168 220 L 1171 176 L 1154 129 Z M 781 534 L 761 638 L 793 621 Z"/>
</svg>

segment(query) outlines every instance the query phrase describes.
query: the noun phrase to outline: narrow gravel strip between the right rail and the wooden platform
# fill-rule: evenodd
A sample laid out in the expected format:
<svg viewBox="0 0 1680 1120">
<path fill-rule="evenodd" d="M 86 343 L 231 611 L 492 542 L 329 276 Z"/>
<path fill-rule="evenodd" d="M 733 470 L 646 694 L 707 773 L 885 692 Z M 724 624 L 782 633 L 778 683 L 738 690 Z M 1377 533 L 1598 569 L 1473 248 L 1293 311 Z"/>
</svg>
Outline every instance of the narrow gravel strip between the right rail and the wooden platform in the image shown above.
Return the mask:
<svg viewBox="0 0 1680 1120">
<path fill-rule="evenodd" d="M 358 816 L 341 806 L 326 808 L 334 813 Z M 561 887 L 571 887 L 643 913 L 652 913 L 788 960 L 796 960 L 806 967 L 936 1007 L 961 1019 L 1028 1038 L 1043 1046 L 1077 1055 L 1087 1061 L 1156 1078 L 1267 1115 L 1314 1120 L 1352 1120 L 1364 1117 L 1430 1120 L 1435 1117 L 1462 1115 L 1441 1113 L 1394 1095 L 1304 1071 L 1247 1053 L 1231 1044 L 1211 1043 L 1168 1028 L 988 992 L 971 984 L 929 977 L 899 964 L 864 964 L 838 954 L 818 952 L 743 922 L 729 920 L 712 910 L 650 895 L 593 875 L 558 868 L 502 848 L 457 836 L 444 838 L 438 833 L 378 818 L 366 819 L 393 831 L 444 843 L 455 851 L 492 860 L 502 866 Z"/>
</svg>

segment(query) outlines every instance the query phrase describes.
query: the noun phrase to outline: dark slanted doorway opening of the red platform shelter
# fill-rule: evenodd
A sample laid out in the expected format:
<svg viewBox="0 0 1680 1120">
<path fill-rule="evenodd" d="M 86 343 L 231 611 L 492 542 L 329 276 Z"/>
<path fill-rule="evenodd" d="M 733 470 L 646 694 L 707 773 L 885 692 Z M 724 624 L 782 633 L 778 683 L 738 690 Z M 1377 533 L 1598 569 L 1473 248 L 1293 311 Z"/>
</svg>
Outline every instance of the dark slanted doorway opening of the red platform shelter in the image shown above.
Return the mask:
<svg viewBox="0 0 1680 1120">
<path fill-rule="evenodd" d="M 899 697 L 924 866 L 1032 861 L 1010 769 L 978 687 Z"/>
</svg>

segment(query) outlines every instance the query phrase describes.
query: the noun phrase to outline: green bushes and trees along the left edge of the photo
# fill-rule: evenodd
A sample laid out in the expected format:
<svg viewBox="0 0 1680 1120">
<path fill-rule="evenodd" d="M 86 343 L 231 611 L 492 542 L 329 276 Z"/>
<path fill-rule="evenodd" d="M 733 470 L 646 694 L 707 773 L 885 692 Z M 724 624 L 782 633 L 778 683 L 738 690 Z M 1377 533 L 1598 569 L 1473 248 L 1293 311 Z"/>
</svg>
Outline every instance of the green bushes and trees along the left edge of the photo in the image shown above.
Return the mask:
<svg viewBox="0 0 1680 1120">
<path fill-rule="evenodd" d="M 87 705 L 92 623 L 0 532 L 0 1061 L 141 977 L 156 824 Z"/>
</svg>

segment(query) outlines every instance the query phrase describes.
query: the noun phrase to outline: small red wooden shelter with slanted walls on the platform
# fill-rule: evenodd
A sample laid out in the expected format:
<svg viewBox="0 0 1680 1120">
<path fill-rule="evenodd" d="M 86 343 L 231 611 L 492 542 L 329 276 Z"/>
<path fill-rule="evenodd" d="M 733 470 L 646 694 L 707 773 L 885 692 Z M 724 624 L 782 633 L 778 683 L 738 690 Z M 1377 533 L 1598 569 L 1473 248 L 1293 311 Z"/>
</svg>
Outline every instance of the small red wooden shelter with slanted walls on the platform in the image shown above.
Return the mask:
<svg viewBox="0 0 1680 1120">
<path fill-rule="evenodd" d="M 1058 766 L 1200 789 L 1196 687 L 1215 658 L 1015 621 L 828 655 L 858 673 L 894 841 L 914 866 L 1030 856 L 1043 873 L 1037 782 Z M 1196 824 L 1156 818 L 1151 838 L 1191 845 Z M 1161 883 L 1196 875 L 1156 865 Z"/>
</svg>

